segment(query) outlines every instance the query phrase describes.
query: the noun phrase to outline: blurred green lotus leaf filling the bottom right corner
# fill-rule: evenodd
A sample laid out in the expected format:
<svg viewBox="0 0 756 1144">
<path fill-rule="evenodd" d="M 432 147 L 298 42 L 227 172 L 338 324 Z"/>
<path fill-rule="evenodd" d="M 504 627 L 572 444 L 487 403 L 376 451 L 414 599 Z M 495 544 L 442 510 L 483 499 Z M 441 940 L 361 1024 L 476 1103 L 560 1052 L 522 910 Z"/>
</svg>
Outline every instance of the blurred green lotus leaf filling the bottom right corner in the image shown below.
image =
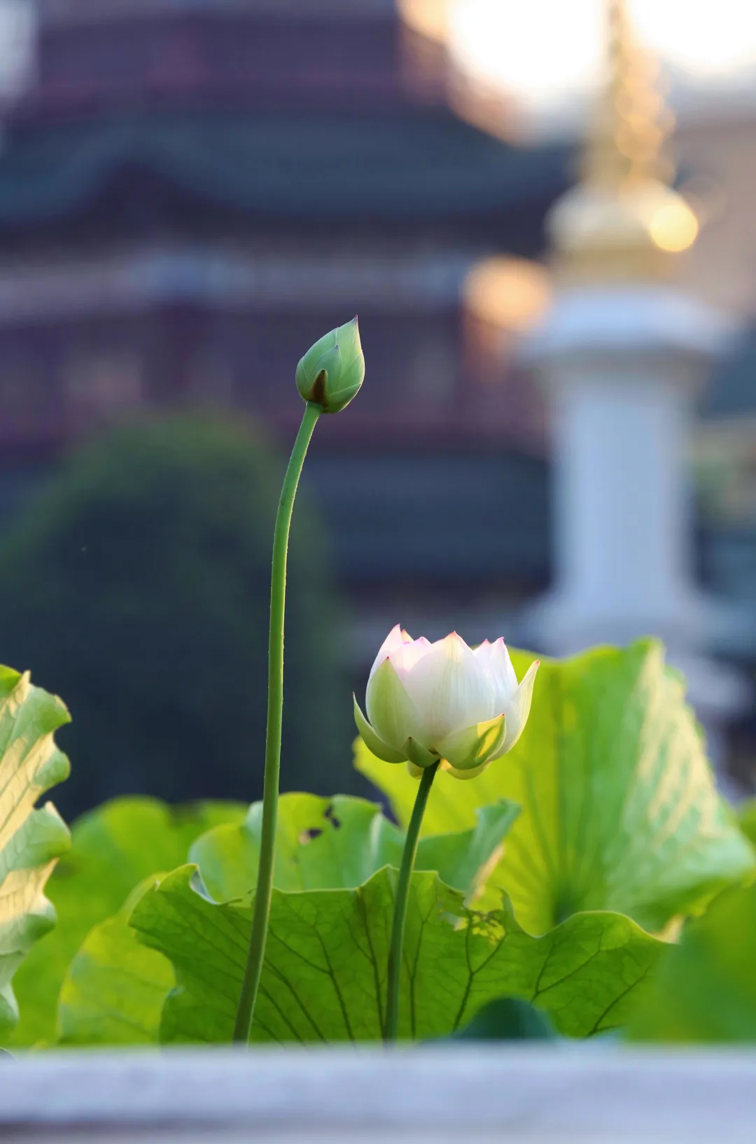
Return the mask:
<svg viewBox="0 0 756 1144">
<path fill-rule="evenodd" d="M 756 885 L 725 890 L 689 922 L 630 1033 L 644 1041 L 756 1042 Z"/>
</svg>

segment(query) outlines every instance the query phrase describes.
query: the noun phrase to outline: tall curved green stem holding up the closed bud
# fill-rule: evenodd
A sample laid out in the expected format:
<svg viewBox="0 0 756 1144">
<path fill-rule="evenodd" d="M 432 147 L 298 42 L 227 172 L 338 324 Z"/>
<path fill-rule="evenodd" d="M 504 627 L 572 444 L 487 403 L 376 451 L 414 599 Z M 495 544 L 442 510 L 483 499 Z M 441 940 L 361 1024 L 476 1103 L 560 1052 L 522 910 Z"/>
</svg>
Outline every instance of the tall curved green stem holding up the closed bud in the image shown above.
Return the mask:
<svg viewBox="0 0 756 1144">
<path fill-rule="evenodd" d="M 312 431 L 323 410 L 313 402 L 304 407 L 302 424 L 294 442 L 284 487 L 278 502 L 276 531 L 273 533 L 273 561 L 270 579 L 270 634 L 268 639 L 268 729 L 265 732 L 265 778 L 263 786 L 263 818 L 260 839 L 260 864 L 255 906 L 252 916 L 252 934 L 247 951 L 247 964 L 241 983 L 239 1008 L 233 1026 L 233 1040 L 246 1044 L 249 1040 L 252 1019 L 255 1011 L 257 987 L 265 956 L 268 917 L 273 891 L 273 858 L 276 849 L 276 824 L 278 820 L 278 785 L 281 766 L 281 720 L 284 713 L 284 609 L 286 605 L 286 557 L 292 509 L 296 487 Z"/>
</svg>

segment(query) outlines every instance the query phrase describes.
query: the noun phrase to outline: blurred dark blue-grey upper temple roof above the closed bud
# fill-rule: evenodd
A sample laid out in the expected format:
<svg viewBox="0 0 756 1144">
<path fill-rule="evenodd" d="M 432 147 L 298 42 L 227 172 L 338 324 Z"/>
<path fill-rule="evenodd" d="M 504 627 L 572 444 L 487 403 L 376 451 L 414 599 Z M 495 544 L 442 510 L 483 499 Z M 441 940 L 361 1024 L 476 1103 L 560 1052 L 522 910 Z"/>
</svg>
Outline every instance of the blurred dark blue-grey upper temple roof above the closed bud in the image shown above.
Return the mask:
<svg viewBox="0 0 756 1144">
<path fill-rule="evenodd" d="M 248 215 L 448 219 L 493 240 L 508 208 L 543 209 L 568 185 L 565 148 L 508 146 L 445 109 L 367 119 L 111 113 L 11 128 L 0 154 L 0 228 L 75 214 L 136 168 Z"/>
</svg>

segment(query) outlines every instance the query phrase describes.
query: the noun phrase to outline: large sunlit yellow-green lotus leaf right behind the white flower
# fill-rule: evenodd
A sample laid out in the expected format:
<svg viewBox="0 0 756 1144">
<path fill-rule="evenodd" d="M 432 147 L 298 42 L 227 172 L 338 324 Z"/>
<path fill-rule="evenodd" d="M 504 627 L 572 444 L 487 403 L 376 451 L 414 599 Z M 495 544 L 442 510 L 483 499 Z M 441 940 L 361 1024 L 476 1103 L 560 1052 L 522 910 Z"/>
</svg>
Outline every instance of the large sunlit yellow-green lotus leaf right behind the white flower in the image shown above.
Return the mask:
<svg viewBox="0 0 756 1144">
<path fill-rule="evenodd" d="M 532 659 L 512 653 L 518 678 Z M 406 769 L 361 742 L 356 765 L 406 823 L 417 789 Z M 581 909 L 618 911 L 661 931 L 754 869 L 683 683 L 655 641 L 543 662 L 517 746 L 476 779 L 439 773 L 423 831 L 471 826 L 498 799 L 523 812 L 492 881 L 533 934 Z"/>
</svg>

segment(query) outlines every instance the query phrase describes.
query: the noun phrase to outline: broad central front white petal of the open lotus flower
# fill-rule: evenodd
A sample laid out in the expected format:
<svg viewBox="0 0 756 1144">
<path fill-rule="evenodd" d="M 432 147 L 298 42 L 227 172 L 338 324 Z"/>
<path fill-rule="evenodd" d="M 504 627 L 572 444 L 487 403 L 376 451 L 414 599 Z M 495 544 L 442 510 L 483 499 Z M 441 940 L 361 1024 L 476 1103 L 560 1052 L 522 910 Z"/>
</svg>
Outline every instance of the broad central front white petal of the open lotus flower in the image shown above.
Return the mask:
<svg viewBox="0 0 756 1144">
<path fill-rule="evenodd" d="M 430 748 L 454 731 L 496 714 L 488 673 L 456 633 L 432 644 L 408 670 L 404 684 L 422 716 L 424 746 Z"/>
</svg>

